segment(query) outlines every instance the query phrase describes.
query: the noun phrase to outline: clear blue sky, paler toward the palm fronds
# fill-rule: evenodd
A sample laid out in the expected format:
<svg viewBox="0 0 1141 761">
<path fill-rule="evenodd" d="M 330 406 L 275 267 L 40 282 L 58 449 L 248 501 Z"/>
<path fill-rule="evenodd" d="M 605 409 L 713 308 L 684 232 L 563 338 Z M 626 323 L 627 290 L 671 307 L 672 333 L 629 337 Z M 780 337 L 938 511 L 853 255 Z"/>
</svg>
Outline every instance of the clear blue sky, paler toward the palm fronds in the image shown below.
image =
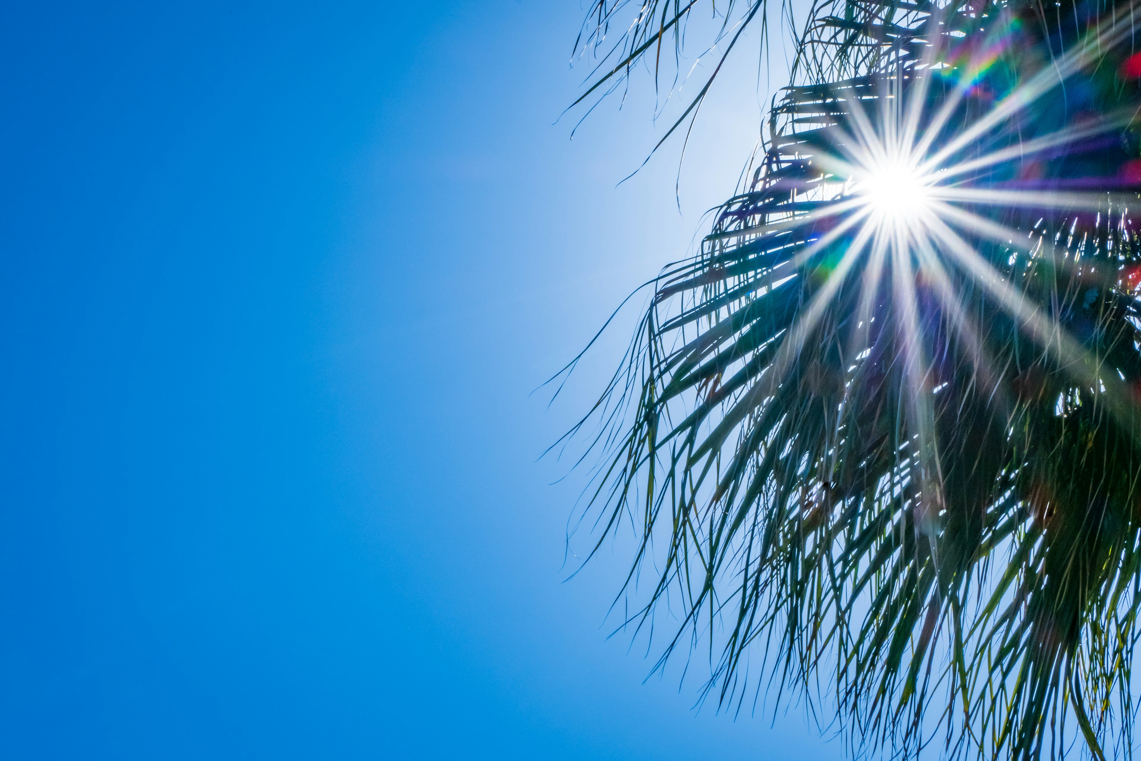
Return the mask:
<svg viewBox="0 0 1141 761">
<path fill-rule="evenodd" d="M 841 758 L 800 709 L 642 683 L 622 547 L 564 581 L 582 478 L 536 458 L 625 323 L 529 395 L 760 114 L 746 63 L 680 213 L 677 151 L 616 186 L 662 126 L 555 123 L 582 13 L 6 7 L 0 755 Z"/>
</svg>

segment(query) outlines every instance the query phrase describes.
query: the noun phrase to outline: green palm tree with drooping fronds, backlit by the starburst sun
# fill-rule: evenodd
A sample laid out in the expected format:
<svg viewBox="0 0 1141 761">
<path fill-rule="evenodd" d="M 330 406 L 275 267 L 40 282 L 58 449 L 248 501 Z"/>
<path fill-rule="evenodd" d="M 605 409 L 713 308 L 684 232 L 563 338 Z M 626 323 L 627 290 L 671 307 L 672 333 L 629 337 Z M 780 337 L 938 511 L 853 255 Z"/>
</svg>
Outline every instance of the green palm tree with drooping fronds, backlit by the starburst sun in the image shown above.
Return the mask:
<svg viewBox="0 0 1141 761">
<path fill-rule="evenodd" d="M 642 0 L 588 95 L 697 5 Z M 764 18 L 718 10 L 727 51 Z M 658 665 L 707 642 L 720 705 L 799 693 L 853 752 L 1131 754 L 1139 10 L 817 0 L 747 186 L 586 418 L 631 622 L 681 622 Z"/>
</svg>

